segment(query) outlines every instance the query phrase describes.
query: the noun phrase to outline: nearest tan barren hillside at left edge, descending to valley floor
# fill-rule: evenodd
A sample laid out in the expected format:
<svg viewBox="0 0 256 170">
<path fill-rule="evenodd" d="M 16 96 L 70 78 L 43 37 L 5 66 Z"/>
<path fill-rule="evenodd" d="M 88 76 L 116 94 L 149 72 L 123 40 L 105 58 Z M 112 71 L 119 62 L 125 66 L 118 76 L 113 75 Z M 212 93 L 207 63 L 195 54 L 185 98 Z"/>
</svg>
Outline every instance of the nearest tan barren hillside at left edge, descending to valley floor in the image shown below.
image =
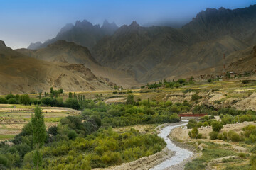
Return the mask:
<svg viewBox="0 0 256 170">
<path fill-rule="evenodd" d="M 67 64 L 68 65 L 68 64 Z M 77 67 L 80 67 L 79 65 Z M 82 66 L 83 67 L 83 66 Z M 112 89 L 90 69 L 78 72 L 58 64 L 26 57 L 0 43 L 0 93 L 48 91 L 51 86 L 65 91 Z"/>
</svg>

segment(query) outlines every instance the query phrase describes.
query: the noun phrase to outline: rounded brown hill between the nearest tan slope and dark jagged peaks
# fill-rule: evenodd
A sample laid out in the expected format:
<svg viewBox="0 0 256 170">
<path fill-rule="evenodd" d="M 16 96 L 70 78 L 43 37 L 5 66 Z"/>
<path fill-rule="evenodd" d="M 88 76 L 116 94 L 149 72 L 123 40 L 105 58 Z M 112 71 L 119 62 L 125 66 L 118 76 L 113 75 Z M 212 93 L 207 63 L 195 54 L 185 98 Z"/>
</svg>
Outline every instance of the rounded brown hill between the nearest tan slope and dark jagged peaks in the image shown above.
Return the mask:
<svg viewBox="0 0 256 170">
<path fill-rule="evenodd" d="M 97 77 L 107 78 L 119 86 L 139 86 L 137 81 L 128 72 L 102 67 L 95 61 L 87 47 L 76 45 L 74 42 L 59 40 L 48 45 L 46 48 L 38 50 L 19 49 L 16 51 L 29 57 L 55 62 L 56 64 L 66 62 L 70 64 L 83 64 L 91 69 Z"/>
</svg>

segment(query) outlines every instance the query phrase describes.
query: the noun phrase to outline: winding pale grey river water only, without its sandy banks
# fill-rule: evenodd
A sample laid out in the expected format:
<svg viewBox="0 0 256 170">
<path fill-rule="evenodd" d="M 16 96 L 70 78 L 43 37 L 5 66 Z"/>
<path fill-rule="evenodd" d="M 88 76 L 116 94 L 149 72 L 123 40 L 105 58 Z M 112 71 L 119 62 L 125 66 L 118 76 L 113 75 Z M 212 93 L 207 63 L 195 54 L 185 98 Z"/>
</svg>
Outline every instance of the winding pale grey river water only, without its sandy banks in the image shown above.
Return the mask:
<svg viewBox="0 0 256 170">
<path fill-rule="evenodd" d="M 161 132 L 159 133 L 158 136 L 165 140 L 165 142 L 167 144 L 166 147 L 168 149 L 170 149 L 171 151 L 174 151 L 175 155 L 173 157 L 171 157 L 170 159 L 166 159 L 166 161 L 162 162 L 161 164 L 154 166 L 154 168 L 152 168 L 151 170 L 166 169 L 170 166 L 173 166 L 173 165 L 183 162 L 183 160 L 188 159 L 189 157 L 192 157 L 193 153 L 191 151 L 189 151 L 187 149 L 183 149 L 181 147 L 178 147 L 173 142 L 171 142 L 171 140 L 168 137 L 171 130 L 173 130 L 174 128 L 177 128 L 179 126 L 186 125 L 186 124 L 187 123 L 182 123 L 180 125 L 169 125 L 161 130 Z"/>
</svg>

